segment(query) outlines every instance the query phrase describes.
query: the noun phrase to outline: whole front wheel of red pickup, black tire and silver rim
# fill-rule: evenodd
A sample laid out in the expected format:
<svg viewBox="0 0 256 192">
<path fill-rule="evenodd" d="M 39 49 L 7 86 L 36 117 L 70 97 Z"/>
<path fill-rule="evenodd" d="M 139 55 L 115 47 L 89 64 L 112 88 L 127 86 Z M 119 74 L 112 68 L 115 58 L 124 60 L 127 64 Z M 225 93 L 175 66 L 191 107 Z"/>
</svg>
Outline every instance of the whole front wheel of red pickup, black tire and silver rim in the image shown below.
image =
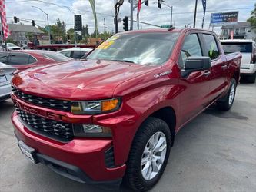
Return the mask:
<svg viewBox="0 0 256 192">
<path fill-rule="evenodd" d="M 138 130 L 131 146 L 125 179 L 133 190 L 151 189 L 163 174 L 171 149 L 168 124 L 148 118 Z"/>
</svg>

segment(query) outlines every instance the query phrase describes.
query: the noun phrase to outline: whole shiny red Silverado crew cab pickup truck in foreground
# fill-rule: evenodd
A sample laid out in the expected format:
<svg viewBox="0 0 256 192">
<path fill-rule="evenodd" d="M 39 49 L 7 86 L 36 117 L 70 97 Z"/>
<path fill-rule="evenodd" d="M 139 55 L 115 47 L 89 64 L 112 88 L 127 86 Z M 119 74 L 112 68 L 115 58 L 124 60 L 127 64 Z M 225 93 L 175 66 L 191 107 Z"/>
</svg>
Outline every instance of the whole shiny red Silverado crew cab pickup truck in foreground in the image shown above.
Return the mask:
<svg viewBox="0 0 256 192">
<path fill-rule="evenodd" d="M 149 190 L 181 127 L 215 102 L 231 108 L 240 63 L 240 53 L 224 55 L 212 31 L 114 35 L 86 61 L 15 75 L 18 146 L 73 180 L 118 186 L 125 176 L 134 190 Z"/>
</svg>

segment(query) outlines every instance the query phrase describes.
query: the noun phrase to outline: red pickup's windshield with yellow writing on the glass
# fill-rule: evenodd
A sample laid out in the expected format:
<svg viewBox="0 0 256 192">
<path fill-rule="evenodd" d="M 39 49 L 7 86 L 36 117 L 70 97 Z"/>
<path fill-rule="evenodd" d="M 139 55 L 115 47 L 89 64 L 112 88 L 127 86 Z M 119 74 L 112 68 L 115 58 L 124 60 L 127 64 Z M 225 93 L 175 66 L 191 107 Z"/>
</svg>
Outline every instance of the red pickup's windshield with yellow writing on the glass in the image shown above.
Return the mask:
<svg viewBox="0 0 256 192">
<path fill-rule="evenodd" d="M 161 65 L 168 60 L 178 38 L 176 32 L 114 35 L 88 55 L 88 59 Z"/>
</svg>

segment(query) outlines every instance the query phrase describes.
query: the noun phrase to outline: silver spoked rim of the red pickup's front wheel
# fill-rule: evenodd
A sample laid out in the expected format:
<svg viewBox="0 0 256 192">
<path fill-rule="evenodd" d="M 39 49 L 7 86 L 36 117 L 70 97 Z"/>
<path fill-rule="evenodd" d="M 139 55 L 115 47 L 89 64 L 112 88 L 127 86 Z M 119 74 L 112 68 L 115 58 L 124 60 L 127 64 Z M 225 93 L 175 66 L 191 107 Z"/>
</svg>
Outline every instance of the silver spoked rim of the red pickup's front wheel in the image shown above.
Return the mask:
<svg viewBox="0 0 256 192">
<path fill-rule="evenodd" d="M 162 132 L 156 132 L 148 140 L 141 157 L 141 174 L 145 180 L 153 179 L 161 170 L 166 148 L 166 137 Z"/>
</svg>

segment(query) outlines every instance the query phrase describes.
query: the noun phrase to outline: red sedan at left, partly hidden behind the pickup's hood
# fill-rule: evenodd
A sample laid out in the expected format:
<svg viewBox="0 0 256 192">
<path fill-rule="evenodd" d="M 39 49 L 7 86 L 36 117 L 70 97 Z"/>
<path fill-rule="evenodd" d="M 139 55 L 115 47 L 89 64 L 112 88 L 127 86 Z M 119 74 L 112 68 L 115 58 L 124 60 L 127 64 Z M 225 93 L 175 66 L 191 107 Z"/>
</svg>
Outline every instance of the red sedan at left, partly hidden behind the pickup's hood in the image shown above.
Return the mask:
<svg viewBox="0 0 256 192">
<path fill-rule="evenodd" d="M 0 52 L 0 62 L 12 65 L 18 71 L 70 60 L 71 58 L 54 51 L 18 50 Z"/>
</svg>

